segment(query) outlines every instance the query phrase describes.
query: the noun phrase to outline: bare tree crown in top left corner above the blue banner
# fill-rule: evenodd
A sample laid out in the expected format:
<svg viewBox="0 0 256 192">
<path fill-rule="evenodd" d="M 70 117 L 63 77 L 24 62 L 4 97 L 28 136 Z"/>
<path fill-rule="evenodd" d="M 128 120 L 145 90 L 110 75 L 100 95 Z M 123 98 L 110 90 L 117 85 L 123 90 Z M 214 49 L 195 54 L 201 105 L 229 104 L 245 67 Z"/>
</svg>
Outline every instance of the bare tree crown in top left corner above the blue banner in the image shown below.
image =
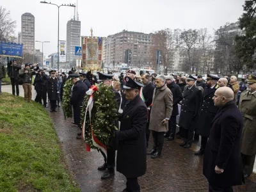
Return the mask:
<svg viewBox="0 0 256 192">
<path fill-rule="evenodd" d="M 10 18 L 10 11 L 0 6 L 0 41 L 9 41 L 10 36 L 14 33 L 16 21 Z"/>
</svg>

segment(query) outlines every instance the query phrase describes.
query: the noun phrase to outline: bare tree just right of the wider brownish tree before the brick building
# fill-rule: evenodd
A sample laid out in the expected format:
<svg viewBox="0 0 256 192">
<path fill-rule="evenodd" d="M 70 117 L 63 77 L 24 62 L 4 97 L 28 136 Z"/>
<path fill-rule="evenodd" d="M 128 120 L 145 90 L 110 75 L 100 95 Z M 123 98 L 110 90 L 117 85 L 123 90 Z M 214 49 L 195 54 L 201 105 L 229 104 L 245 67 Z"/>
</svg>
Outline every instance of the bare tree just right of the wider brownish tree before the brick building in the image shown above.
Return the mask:
<svg viewBox="0 0 256 192">
<path fill-rule="evenodd" d="M 184 30 L 180 33 L 180 48 L 186 50 L 187 57 L 185 62 L 182 65 L 182 70 L 189 71 L 190 67 L 194 67 L 195 61 L 193 62 L 193 53 L 195 54 L 195 50 L 197 49 L 198 44 L 198 30 L 196 29 L 188 29 Z M 193 52 L 192 52 L 193 51 Z"/>
</svg>

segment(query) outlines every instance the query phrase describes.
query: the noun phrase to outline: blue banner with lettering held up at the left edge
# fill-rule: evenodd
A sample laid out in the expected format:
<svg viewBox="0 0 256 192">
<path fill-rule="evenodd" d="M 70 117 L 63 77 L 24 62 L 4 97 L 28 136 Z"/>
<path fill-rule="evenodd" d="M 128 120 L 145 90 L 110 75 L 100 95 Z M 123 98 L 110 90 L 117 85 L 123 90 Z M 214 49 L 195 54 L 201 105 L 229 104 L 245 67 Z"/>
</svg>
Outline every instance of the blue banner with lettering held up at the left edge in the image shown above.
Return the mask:
<svg viewBox="0 0 256 192">
<path fill-rule="evenodd" d="M 22 58 L 23 44 L 15 44 L 12 42 L 1 42 L 0 56 L 11 56 L 13 58 Z"/>
</svg>

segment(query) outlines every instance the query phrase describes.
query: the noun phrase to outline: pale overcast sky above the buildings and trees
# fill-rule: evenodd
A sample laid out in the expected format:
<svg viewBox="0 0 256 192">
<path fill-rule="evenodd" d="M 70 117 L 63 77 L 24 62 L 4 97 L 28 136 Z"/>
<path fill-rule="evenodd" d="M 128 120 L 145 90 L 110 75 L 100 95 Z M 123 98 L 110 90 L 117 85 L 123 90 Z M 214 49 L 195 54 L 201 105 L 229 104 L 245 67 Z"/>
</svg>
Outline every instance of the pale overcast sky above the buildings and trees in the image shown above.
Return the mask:
<svg viewBox="0 0 256 192">
<path fill-rule="evenodd" d="M 76 3 L 76 0 L 49 0 L 55 4 Z M 226 22 L 236 22 L 243 13 L 243 0 L 78 0 L 81 35 L 108 36 L 127 29 L 152 33 L 164 28 L 218 29 Z M 21 15 L 35 16 L 35 40 L 44 45 L 48 56 L 57 52 L 58 8 L 38 0 L 0 0 L 17 21 L 16 34 L 21 31 Z M 60 8 L 60 40 L 67 38 L 67 22 L 74 17 L 74 8 Z M 42 44 L 35 43 L 36 49 Z"/>
</svg>

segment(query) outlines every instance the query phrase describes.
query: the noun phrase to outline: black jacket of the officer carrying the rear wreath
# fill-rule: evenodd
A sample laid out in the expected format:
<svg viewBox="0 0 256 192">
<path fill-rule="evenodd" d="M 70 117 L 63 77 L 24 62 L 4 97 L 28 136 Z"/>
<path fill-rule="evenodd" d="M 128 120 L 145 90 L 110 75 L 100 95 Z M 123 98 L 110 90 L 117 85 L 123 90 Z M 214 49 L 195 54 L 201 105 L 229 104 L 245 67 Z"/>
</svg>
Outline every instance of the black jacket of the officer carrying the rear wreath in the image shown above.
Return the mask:
<svg viewBox="0 0 256 192">
<path fill-rule="evenodd" d="M 72 89 L 72 94 L 70 97 L 70 104 L 72 106 L 82 106 L 83 100 L 84 100 L 84 95 L 86 92 L 89 90 L 88 86 L 83 83 L 81 80 L 77 81 Z"/>
</svg>

